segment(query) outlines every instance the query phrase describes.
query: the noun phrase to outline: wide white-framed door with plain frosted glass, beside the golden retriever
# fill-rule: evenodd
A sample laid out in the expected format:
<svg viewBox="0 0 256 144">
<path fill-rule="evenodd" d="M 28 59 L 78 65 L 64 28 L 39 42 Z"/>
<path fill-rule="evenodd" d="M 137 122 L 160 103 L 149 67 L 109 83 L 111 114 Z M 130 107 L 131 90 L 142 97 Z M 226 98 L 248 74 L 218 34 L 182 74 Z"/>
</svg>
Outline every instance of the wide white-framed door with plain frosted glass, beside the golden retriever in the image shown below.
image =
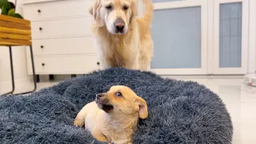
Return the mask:
<svg viewBox="0 0 256 144">
<path fill-rule="evenodd" d="M 153 0 L 157 74 L 207 74 L 207 0 Z"/>
</svg>

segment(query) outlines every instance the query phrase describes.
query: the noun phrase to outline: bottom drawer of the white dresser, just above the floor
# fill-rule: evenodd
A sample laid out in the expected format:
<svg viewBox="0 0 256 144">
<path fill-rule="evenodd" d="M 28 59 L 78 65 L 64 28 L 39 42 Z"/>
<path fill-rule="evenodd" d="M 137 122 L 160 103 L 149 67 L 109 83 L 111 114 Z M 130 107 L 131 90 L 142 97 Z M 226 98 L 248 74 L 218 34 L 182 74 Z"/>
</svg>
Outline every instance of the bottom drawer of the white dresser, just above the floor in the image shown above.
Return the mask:
<svg viewBox="0 0 256 144">
<path fill-rule="evenodd" d="M 34 66 L 36 74 L 86 74 L 100 69 L 96 55 L 35 57 Z"/>
</svg>

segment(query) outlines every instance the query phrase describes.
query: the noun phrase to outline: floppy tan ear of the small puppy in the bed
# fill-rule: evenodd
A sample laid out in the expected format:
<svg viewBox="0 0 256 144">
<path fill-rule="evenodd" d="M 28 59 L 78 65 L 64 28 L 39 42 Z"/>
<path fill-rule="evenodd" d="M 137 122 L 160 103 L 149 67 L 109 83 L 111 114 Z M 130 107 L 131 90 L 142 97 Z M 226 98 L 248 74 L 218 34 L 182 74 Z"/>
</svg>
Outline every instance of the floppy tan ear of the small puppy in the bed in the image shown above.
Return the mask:
<svg viewBox="0 0 256 144">
<path fill-rule="evenodd" d="M 148 116 L 147 104 L 143 98 L 138 97 L 134 102 L 135 110 L 138 110 L 138 117 L 145 119 Z"/>
</svg>

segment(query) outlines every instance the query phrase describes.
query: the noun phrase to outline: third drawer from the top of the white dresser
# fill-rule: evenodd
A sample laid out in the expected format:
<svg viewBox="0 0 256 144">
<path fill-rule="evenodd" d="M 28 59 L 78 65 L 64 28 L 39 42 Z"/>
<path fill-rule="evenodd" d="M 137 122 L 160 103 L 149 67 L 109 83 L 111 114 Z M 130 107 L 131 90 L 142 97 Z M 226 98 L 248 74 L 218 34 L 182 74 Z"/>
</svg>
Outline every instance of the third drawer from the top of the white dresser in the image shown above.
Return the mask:
<svg viewBox="0 0 256 144">
<path fill-rule="evenodd" d="M 33 41 L 34 55 L 95 54 L 93 37 L 54 38 Z"/>
</svg>

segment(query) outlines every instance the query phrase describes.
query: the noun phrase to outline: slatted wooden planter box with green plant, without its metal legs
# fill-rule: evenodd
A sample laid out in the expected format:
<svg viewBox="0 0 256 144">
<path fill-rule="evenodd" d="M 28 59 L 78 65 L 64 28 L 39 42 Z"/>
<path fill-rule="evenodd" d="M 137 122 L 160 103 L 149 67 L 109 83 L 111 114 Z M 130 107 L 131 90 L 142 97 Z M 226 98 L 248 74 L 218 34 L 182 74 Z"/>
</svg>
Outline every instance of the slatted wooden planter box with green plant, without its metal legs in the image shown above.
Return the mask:
<svg viewBox="0 0 256 144">
<path fill-rule="evenodd" d="M 0 8 L 0 46 L 30 46 L 30 21 L 15 13 L 15 5 L 12 2 L 0 0 Z"/>
</svg>

